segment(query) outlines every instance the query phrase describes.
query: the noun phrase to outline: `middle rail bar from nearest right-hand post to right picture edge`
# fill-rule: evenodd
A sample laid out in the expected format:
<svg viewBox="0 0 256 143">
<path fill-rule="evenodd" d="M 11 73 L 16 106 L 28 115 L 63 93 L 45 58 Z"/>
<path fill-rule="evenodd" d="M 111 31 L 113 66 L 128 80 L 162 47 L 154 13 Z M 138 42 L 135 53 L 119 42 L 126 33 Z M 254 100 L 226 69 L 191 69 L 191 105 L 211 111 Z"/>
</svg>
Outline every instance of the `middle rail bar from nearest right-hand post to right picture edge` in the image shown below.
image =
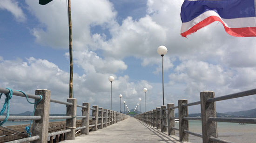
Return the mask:
<svg viewBox="0 0 256 143">
<path fill-rule="evenodd" d="M 208 120 L 212 121 L 212 122 L 256 124 L 256 118 L 213 118 L 213 117 L 210 117 Z"/>
</svg>

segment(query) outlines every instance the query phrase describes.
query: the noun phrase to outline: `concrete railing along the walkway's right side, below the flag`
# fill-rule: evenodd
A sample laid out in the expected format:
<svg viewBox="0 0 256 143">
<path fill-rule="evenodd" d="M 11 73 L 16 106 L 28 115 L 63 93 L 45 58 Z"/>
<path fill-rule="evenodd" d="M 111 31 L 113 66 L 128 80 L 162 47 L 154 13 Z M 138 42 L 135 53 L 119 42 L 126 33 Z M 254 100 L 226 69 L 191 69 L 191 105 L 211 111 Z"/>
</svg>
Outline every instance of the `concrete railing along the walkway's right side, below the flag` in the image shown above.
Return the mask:
<svg viewBox="0 0 256 143">
<path fill-rule="evenodd" d="M 200 101 L 188 103 L 187 99 L 178 100 L 178 106 L 167 104 L 154 110 L 141 113 L 135 118 L 149 124 L 161 131 L 167 131 L 168 135 L 175 135 L 175 130 L 179 131 L 180 141 L 188 142 L 189 134 L 201 137 L 203 143 L 232 143 L 218 138 L 216 122 L 248 123 L 256 124 L 256 118 L 216 118 L 216 101 L 239 98 L 255 95 L 256 89 L 233 93 L 225 96 L 215 97 L 212 91 L 200 93 Z M 189 117 L 188 106 L 201 105 L 201 117 Z M 179 117 L 175 117 L 174 110 L 178 109 Z M 175 119 L 179 120 L 179 128 L 175 128 Z M 189 120 L 202 121 L 202 134 L 189 131 Z"/>
</svg>

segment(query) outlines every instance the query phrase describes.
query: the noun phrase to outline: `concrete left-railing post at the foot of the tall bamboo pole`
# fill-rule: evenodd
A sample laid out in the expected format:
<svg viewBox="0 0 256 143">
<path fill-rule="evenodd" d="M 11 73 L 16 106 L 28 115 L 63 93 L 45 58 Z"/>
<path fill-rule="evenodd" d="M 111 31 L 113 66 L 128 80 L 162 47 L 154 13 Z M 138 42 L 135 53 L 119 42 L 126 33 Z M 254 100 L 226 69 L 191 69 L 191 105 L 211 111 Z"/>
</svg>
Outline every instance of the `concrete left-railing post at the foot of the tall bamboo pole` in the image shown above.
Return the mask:
<svg viewBox="0 0 256 143">
<path fill-rule="evenodd" d="M 66 133 L 66 140 L 74 140 L 75 138 L 75 124 L 76 124 L 76 99 L 68 98 L 67 102 L 72 103 L 73 105 L 67 105 L 67 116 L 71 116 L 72 118 L 66 119 L 66 129 L 70 129 L 70 132 Z"/>
</svg>

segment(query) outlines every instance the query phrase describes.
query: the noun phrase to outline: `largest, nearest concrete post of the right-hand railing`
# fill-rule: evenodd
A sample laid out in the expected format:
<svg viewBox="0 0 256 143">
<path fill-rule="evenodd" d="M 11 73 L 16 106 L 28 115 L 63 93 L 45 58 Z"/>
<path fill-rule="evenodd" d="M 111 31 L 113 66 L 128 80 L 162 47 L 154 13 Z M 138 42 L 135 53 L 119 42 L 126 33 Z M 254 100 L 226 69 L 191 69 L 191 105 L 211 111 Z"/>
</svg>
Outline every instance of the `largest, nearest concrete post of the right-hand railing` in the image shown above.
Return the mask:
<svg viewBox="0 0 256 143">
<path fill-rule="evenodd" d="M 207 99 L 214 97 L 215 93 L 213 91 L 203 91 L 200 93 L 203 143 L 214 143 L 209 140 L 209 137 L 218 137 L 217 122 L 208 121 L 209 117 L 216 118 L 215 102 L 207 102 Z"/>
</svg>

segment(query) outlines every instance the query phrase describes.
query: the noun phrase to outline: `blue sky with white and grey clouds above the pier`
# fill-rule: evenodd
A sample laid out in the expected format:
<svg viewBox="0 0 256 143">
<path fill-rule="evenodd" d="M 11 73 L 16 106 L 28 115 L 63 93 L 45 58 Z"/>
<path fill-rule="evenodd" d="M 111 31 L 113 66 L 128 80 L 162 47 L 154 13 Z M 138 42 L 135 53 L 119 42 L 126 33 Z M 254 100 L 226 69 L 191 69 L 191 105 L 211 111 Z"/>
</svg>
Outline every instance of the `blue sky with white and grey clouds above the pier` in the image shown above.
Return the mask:
<svg viewBox="0 0 256 143">
<path fill-rule="evenodd" d="M 255 37 L 231 37 L 217 22 L 188 38 L 181 37 L 181 5 L 181 0 L 72 0 L 74 97 L 78 104 L 110 108 L 108 77 L 113 75 L 114 110 L 120 110 L 119 94 L 129 109 L 139 98 L 144 104 L 144 87 L 148 88 L 146 110 L 161 106 L 161 56 L 156 52 L 160 45 L 168 49 L 164 56 L 165 103 L 198 101 L 204 90 L 221 96 L 255 88 Z M 45 6 L 38 0 L 3 0 L 0 12 L 0 87 L 26 93 L 45 88 L 52 91 L 53 99 L 66 100 L 66 0 L 53 0 Z M 217 112 L 253 109 L 255 101 L 249 96 L 218 102 Z M 20 106 L 11 108 L 13 113 L 32 110 L 18 97 L 11 105 Z M 51 112 L 65 112 L 65 108 L 51 104 Z M 191 107 L 189 112 L 200 112 L 200 107 Z"/>
</svg>

